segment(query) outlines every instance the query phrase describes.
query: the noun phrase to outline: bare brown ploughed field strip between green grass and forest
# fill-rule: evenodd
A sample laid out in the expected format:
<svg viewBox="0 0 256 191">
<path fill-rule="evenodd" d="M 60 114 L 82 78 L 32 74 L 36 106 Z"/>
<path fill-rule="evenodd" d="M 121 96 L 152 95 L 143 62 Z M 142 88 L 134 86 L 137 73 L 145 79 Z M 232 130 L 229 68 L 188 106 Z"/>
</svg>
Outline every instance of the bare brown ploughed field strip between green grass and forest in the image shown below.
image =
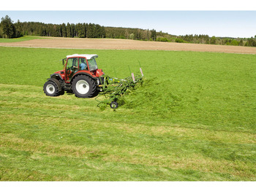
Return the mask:
<svg viewBox="0 0 256 191">
<path fill-rule="evenodd" d="M 196 52 L 227 52 L 256 54 L 255 47 L 238 47 L 211 44 L 189 44 L 175 42 L 149 42 L 127 39 L 73 39 L 73 38 L 42 38 L 23 42 L 0 43 L 4 47 L 45 47 L 66 49 L 97 49 L 97 50 L 173 50 Z"/>
</svg>

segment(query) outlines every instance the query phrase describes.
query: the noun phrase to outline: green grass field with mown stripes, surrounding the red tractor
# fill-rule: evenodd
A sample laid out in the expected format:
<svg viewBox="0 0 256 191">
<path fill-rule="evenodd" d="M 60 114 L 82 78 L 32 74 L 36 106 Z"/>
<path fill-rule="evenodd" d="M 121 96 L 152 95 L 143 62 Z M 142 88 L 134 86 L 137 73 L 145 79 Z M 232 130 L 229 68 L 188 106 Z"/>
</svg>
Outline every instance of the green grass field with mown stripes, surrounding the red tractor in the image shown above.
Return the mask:
<svg viewBox="0 0 256 191">
<path fill-rule="evenodd" d="M 0 47 L 1 181 L 255 181 L 256 55 Z M 61 58 L 146 80 L 125 104 L 48 97 Z"/>
</svg>

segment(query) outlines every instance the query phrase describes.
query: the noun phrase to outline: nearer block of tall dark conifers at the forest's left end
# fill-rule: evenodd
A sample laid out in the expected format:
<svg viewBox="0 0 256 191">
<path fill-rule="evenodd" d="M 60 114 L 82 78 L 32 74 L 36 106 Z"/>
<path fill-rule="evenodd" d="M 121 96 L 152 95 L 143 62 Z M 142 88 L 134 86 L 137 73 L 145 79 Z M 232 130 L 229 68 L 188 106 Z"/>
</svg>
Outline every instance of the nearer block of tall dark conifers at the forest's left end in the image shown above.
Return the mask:
<svg viewBox="0 0 256 191">
<path fill-rule="evenodd" d="M 1 18 L 0 37 L 18 38 L 20 36 L 56 36 L 78 38 L 105 38 L 104 26 L 94 23 L 45 24 L 39 22 L 13 23 L 7 15 Z"/>
</svg>

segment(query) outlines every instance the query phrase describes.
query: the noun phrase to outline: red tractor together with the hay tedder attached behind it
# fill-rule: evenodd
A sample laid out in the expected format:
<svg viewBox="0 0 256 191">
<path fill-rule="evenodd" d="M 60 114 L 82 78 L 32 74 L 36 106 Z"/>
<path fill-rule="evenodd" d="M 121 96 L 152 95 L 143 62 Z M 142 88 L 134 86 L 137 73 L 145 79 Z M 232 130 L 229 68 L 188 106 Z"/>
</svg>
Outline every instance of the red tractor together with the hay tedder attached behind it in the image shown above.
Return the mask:
<svg viewBox="0 0 256 191">
<path fill-rule="evenodd" d="M 43 87 L 45 95 L 63 95 L 65 91 L 75 93 L 78 98 L 92 98 L 97 94 L 104 95 L 105 100 L 97 101 L 98 106 L 109 104 L 111 108 L 118 107 L 118 99 L 127 90 L 133 90 L 143 83 L 143 71 L 140 67 L 141 76 L 118 79 L 109 77 L 102 69 L 98 69 L 95 58 L 98 55 L 67 55 L 62 59 L 64 69 L 56 71 Z M 102 100 L 102 99 L 101 99 Z"/>
</svg>

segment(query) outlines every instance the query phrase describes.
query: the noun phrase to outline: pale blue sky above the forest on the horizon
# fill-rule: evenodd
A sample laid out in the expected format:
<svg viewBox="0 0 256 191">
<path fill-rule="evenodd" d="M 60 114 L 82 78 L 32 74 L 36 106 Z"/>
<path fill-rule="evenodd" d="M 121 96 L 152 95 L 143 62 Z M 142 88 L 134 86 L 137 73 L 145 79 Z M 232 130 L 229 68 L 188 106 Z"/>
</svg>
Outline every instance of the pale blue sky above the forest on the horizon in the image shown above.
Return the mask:
<svg viewBox="0 0 256 191">
<path fill-rule="evenodd" d="M 216 1 L 219 0 L 214 2 Z M 182 1 L 180 3 L 182 4 Z M 211 1 L 208 1 L 208 3 L 211 3 Z M 219 4 L 217 6 L 220 7 Z M 36 7 L 31 7 L 27 10 L 17 9 L 12 11 L 8 9 L 1 10 L 0 8 L 0 17 L 8 15 L 14 23 L 18 20 L 20 22 L 34 21 L 55 24 L 95 23 L 101 26 L 155 29 L 173 35 L 208 34 L 209 36 L 234 38 L 250 38 L 256 35 L 256 9 L 244 10 L 241 8 L 238 11 L 232 9 L 203 10 L 204 8 L 195 10 L 118 10 L 116 7 L 105 7 L 105 9 L 101 8 L 100 10 L 85 8 L 81 10 L 81 7 L 83 6 L 77 6 L 78 9 L 72 9 L 72 11 L 68 11 L 67 8 L 66 10 L 37 10 Z M 246 7 L 253 6 L 246 5 Z"/>
</svg>

